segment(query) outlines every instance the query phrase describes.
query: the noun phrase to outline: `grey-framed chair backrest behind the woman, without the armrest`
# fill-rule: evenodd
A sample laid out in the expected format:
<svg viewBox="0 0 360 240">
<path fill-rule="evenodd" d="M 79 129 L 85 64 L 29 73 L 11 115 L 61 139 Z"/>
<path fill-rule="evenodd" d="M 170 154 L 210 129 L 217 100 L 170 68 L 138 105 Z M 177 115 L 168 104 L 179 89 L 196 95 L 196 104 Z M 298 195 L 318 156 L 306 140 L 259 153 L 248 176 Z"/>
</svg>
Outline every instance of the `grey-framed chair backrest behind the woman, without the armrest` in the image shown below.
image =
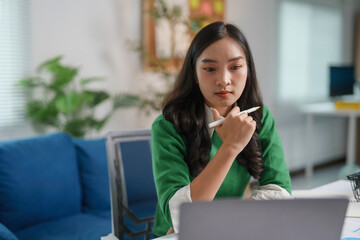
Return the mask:
<svg viewBox="0 0 360 240">
<path fill-rule="evenodd" d="M 110 132 L 106 135 L 113 233 L 122 223 L 121 205 L 156 199 L 151 162 L 151 130 Z"/>
</svg>

